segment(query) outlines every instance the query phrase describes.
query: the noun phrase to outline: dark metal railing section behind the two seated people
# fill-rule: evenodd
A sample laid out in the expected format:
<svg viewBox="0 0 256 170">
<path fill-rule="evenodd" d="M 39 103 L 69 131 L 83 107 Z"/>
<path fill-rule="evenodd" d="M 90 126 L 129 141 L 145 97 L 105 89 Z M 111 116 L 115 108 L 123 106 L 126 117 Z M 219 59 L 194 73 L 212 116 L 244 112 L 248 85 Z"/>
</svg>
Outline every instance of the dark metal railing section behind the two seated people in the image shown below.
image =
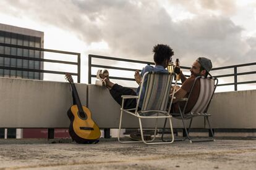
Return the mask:
<svg viewBox="0 0 256 170">
<path fill-rule="evenodd" d="M 89 54 L 88 55 L 88 84 L 92 83 L 92 78 L 96 78 L 96 75 L 92 75 L 92 68 L 108 68 L 108 69 L 113 69 L 113 70 L 125 70 L 125 71 L 135 71 L 135 70 L 139 70 L 140 69 L 134 69 L 134 68 L 122 68 L 122 67 L 111 67 L 109 65 L 96 65 L 92 63 L 92 59 L 105 59 L 105 60 L 117 60 L 119 62 L 130 62 L 130 63 L 144 63 L 144 64 L 148 64 L 148 65 L 155 65 L 155 63 L 153 62 L 143 62 L 143 61 L 138 61 L 138 60 L 129 60 L 129 59 L 120 59 L 120 58 L 116 58 L 116 57 L 106 57 L 106 56 L 101 56 L 101 55 L 92 55 Z M 234 83 L 223 83 L 223 84 L 218 84 L 218 86 L 230 86 L 230 85 L 234 85 L 234 91 L 237 91 L 237 85 L 238 84 L 251 84 L 251 83 L 256 83 L 256 79 L 252 80 L 252 81 L 242 81 L 242 82 L 237 82 L 237 76 L 241 76 L 241 75 L 252 75 L 255 74 L 256 71 L 247 71 L 247 72 L 242 72 L 242 73 L 237 73 L 237 68 L 239 67 L 247 67 L 247 66 L 251 66 L 251 65 L 256 65 L 256 62 L 254 63 L 245 63 L 245 64 L 241 64 L 241 65 L 231 65 L 231 66 L 226 66 L 226 67 L 218 67 L 218 68 L 213 68 L 212 70 L 224 70 L 224 69 L 228 69 L 228 68 L 233 68 L 234 73 L 232 74 L 226 74 L 226 75 L 213 75 L 216 78 L 226 78 L 226 77 L 230 77 L 233 76 L 234 77 Z M 184 70 L 190 70 L 190 67 L 182 67 L 182 69 Z M 190 75 L 185 75 L 187 77 L 189 77 Z M 121 80 L 125 80 L 125 81 L 135 81 L 134 78 L 123 78 L 123 77 L 116 77 L 116 76 L 109 76 L 109 78 L 111 79 L 121 79 Z M 178 83 L 181 84 L 181 83 Z"/>
</svg>

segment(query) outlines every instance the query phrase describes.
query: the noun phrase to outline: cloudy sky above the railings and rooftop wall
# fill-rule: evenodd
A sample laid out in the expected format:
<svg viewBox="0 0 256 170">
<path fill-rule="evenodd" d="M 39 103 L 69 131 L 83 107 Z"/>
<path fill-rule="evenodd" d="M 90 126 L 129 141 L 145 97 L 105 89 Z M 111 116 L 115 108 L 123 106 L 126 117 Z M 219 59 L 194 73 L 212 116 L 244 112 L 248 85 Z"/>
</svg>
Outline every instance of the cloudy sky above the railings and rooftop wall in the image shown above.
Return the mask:
<svg viewBox="0 0 256 170">
<path fill-rule="evenodd" d="M 256 62 L 254 0 L 1 0 L 0 23 L 45 32 L 45 48 L 80 52 L 85 70 L 88 54 L 153 62 L 158 43 L 184 66 Z"/>
</svg>

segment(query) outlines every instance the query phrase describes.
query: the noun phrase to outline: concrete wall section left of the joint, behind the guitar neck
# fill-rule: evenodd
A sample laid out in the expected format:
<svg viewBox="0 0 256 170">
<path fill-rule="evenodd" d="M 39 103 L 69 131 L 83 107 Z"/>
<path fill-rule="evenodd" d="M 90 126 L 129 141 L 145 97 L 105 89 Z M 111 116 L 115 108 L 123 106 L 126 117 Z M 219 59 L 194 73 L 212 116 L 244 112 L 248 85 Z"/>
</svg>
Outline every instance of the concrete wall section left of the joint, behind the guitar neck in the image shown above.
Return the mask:
<svg viewBox="0 0 256 170">
<path fill-rule="evenodd" d="M 76 84 L 83 105 L 87 85 Z M 0 78 L 0 127 L 68 127 L 69 83 Z"/>
</svg>

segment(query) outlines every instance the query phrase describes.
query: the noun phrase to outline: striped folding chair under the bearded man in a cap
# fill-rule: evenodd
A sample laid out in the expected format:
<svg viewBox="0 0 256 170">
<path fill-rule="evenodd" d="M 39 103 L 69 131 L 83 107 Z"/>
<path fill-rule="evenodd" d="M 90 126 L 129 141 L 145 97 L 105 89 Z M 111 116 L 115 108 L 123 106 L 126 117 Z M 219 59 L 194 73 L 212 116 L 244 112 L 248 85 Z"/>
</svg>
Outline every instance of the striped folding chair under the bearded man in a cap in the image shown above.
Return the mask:
<svg viewBox="0 0 256 170">
<path fill-rule="evenodd" d="M 190 95 L 192 94 L 192 91 L 194 89 L 195 82 L 197 80 L 200 81 L 200 92 L 199 92 L 199 95 L 198 95 L 198 99 L 197 99 L 197 102 L 195 103 L 194 107 L 192 108 L 192 110 L 189 113 L 186 113 L 185 112 L 186 107 L 187 107 L 187 104 L 189 102 Z M 173 118 L 182 120 L 182 124 L 183 124 L 184 130 L 186 132 L 186 138 L 184 138 L 182 140 L 188 139 L 190 143 L 192 143 L 192 142 L 214 141 L 213 129 L 211 129 L 210 122 L 209 122 L 209 119 L 208 119 L 208 116 L 211 116 L 211 115 L 207 113 L 207 110 L 208 110 L 208 107 L 210 105 L 213 94 L 215 92 L 217 84 L 218 84 L 218 79 L 217 78 L 214 78 L 214 77 L 205 78 L 203 76 L 198 76 L 197 78 L 195 78 L 194 84 L 191 87 L 191 91 L 190 91 L 190 94 L 189 94 L 188 98 L 181 99 L 183 101 L 186 101 L 186 103 L 184 105 L 184 108 L 181 108 L 179 106 L 179 113 L 171 113 L 171 115 L 173 115 Z M 210 133 L 209 133 L 210 138 L 195 140 L 195 139 L 191 139 L 191 137 L 189 136 L 189 130 L 190 130 L 190 127 L 191 127 L 191 124 L 192 124 L 192 120 L 196 116 L 203 116 L 204 121 L 205 121 L 205 119 L 207 120 L 209 129 L 210 129 Z M 184 119 L 190 119 L 190 123 L 189 123 L 188 128 L 185 126 Z M 163 134 L 164 134 L 165 126 L 166 126 L 166 120 L 164 122 Z M 205 126 L 206 126 L 206 124 L 205 124 Z M 162 134 L 162 140 L 163 140 L 163 134 Z M 163 141 L 167 142 L 168 140 L 163 140 Z"/>
</svg>

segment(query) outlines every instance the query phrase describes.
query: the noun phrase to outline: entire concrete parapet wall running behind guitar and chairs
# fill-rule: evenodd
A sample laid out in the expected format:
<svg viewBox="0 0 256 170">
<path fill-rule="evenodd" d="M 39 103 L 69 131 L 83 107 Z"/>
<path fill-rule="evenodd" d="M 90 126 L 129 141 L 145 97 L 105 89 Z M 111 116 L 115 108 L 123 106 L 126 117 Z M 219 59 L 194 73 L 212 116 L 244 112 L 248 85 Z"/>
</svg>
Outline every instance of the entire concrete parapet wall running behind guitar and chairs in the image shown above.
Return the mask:
<svg viewBox="0 0 256 170">
<path fill-rule="evenodd" d="M 82 105 L 92 111 L 93 120 L 101 128 L 119 126 L 120 106 L 108 89 L 93 84 L 75 84 Z M 31 79 L 0 78 L 0 127 L 69 127 L 67 110 L 72 105 L 69 83 Z M 256 129 L 256 90 L 216 93 L 209 113 L 213 128 Z M 153 127 L 153 119 L 143 121 Z M 163 126 L 159 119 L 158 127 Z M 124 128 L 139 127 L 138 119 L 124 114 Z M 182 128 L 173 119 L 173 127 Z M 194 128 L 204 127 L 203 118 L 195 118 Z"/>
</svg>

